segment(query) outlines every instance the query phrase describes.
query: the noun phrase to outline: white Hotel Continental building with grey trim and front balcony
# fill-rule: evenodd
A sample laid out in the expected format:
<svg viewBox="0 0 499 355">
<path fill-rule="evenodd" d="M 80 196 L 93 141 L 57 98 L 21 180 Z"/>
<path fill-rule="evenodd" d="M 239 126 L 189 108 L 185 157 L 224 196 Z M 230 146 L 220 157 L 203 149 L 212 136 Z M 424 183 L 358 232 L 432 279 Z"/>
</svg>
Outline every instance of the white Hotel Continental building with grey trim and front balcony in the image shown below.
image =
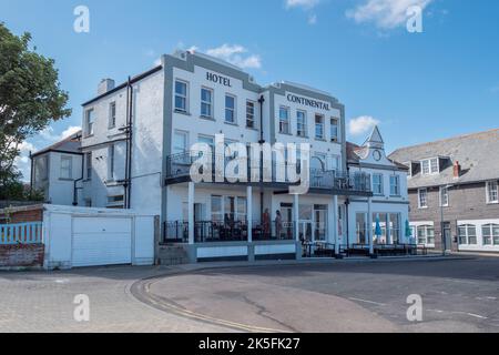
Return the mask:
<svg viewBox="0 0 499 355">
<path fill-rule="evenodd" d="M 309 254 L 338 255 L 408 242 L 407 170 L 386 158 L 377 129 L 347 152 L 345 108 L 326 92 L 261 87 L 234 65 L 180 51 L 121 85 L 102 81 L 83 104 L 82 130 L 74 201 L 160 215 L 165 253 L 174 245 L 194 262 L 295 258 L 312 243 Z M 276 179 L 192 182 L 191 146 L 213 146 L 216 134 L 226 143 L 309 143 L 308 193 L 291 195 L 291 183 Z M 381 237 L 367 227 L 376 220 Z"/>
</svg>

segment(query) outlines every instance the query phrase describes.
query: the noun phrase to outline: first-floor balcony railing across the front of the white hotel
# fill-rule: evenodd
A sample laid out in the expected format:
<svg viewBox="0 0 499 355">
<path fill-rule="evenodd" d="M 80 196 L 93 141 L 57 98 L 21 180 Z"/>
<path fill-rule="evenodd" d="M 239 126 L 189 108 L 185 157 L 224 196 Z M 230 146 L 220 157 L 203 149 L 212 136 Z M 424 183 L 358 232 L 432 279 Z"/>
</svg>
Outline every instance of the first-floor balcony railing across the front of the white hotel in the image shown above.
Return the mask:
<svg viewBox="0 0 499 355">
<path fill-rule="evenodd" d="M 166 181 L 175 180 L 189 180 L 191 176 L 191 166 L 197 160 L 196 155 L 192 156 L 190 152 L 170 155 L 166 158 Z M 213 155 L 211 159 L 212 181 L 215 181 L 215 174 L 227 176 L 225 173 L 226 166 L 231 159 L 226 156 Z M 261 175 L 263 172 L 264 183 L 284 183 L 284 184 L 298 184 L 299 182 L 291 181 L 287 174 L 287 166 L 294 169 L 298 174 L 301 172 L 299 164 L 276 164 L 275 162 L 264 162 L 263 168 L 259 165 L 254 166 L 252 161 L 247 160 L 247 178 L 245 182 L 255 182 L 252 176 Z M 217 171 L 222 170 L 222 171 Z M 272 170 L 272 171 L 271 171 Z M 268 178 L 271 181 L 268 181 Z M 259 182 L 259 181 L 256 181 Z M 309 187 L 320 190 L 340 190 L 353 192 L 371 192 L 370 174 L 360 172 L 345 172 L 339 170 L 324 171 L 320 169 L 309 170 Z"/>
</svg>

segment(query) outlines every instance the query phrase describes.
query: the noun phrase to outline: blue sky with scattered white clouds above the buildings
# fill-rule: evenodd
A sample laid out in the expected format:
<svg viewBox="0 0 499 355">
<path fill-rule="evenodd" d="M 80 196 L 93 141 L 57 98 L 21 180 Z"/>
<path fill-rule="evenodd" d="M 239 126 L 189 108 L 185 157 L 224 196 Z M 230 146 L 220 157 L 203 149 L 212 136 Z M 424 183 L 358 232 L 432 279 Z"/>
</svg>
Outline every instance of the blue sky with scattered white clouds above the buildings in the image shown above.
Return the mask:
<svg viewBox="0 0 499 355">
<path fill-rule="evenodd" d="M 82 4 L 90 33 L 73 30 Z M 415 4 L 422 33 L 406 29 Z M 361 143 L 377 122 L 388 151 L 498 128 L 498 13 L 496 0 L 0 0 L 0 21 L 55 59 L 73 109 L 24 155 L 81 125 L 100 79 L 122 82 L 176 48 L 243 65 L 261 84 L 328 91 L 346 105 L 348 138 Z"/>
</svg>

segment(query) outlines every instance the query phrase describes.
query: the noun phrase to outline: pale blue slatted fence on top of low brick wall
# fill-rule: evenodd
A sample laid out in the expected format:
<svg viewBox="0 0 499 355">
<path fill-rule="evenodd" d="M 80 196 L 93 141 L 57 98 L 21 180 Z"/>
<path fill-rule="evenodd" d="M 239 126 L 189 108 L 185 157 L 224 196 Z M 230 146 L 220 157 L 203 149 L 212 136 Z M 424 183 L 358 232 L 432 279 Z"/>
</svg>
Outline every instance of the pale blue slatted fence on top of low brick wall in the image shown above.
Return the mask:
<svg viewBox="0 0 499 355">
<path fill-rule="evenodd" d="M 0 245 L 41 244 L 43 223 L 0 224 Z"/>
</svg>

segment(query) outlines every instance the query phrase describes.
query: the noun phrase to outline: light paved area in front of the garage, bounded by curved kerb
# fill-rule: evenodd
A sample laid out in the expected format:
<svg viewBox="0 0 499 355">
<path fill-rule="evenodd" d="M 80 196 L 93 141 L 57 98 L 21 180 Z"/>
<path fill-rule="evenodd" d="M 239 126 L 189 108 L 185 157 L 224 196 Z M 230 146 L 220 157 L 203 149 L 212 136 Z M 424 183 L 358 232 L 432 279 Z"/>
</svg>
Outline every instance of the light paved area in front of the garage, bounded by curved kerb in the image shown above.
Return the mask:
<svg viewBox="0 0 499 355">
<path fill-rule="evenodd" d="M 227 332 L 171 315 L 130 293 L 154 267 L 88 268 L 70 272 L 0 272 L 0 333 L 17 332 Z M 90 297 L 90 322 L 77 322 L 74 297 Z"/>
</svg>

